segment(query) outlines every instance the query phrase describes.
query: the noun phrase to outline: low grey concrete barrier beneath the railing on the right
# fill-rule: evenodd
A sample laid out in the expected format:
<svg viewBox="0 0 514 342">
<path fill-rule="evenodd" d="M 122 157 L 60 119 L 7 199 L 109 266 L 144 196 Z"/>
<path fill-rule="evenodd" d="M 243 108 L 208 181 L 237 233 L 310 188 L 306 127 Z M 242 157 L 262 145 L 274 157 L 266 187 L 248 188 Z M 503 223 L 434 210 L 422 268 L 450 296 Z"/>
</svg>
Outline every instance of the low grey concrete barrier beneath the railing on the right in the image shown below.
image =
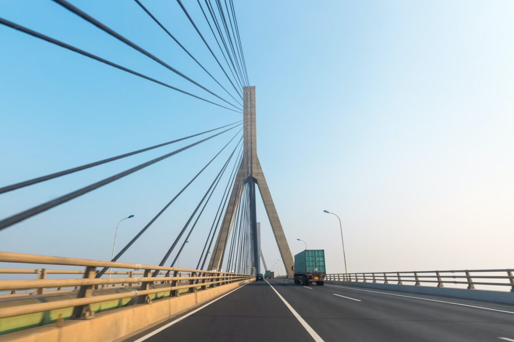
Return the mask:
<svg viewBox="0 0 514 342">
<path fill-rule="evenodd" d="M 430 286 L 412 286 L 399 284 L 380 284 L 372 282 L 356 282 L 356 281 L 335 281 L 325 280 L 327 284 L 339 284 L 344 286 L 352 286 L 376 290 L 401 291 L 417 294 L 429 294 L 443 297 L 465 298 L 492 301 L 498 303 L 514 304 L 514 292 L 486 291 L 486 290 L 468 290 L 468 289 L 451 289 L 437 288 Z"/>
</svg>

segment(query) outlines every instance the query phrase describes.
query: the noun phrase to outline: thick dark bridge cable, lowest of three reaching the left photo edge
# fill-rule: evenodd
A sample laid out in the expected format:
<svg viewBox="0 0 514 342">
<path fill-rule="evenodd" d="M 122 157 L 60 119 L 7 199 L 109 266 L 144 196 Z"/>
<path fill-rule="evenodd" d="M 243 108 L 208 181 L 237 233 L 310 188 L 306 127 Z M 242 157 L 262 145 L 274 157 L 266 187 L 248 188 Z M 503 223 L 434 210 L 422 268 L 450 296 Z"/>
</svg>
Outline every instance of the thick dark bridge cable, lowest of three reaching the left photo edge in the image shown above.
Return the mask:
<svg viewBox="0 0 514 342">
<path fill-rule="evenodd" d="M 103 179 L 101 181 L 98 181 L 96 183 L 89 184 L 89 185 L 87 185 L 85 187 L 82 187 L 82 188 L 80 188 L 80 189 L 78 189 L 78 190 L 76 190 L 74 192 L 68 193 L 68 194 L 63 195 L 63 196 L 58 197 L 58 198 L 54 198 L 53 200 L 50 200 L 50 201 L 45 202 L 45 203 L 42 203 L 40 205 L 36 205 L 36 206 L 34 206 L 34 207 L 32 207 L 32 208 L 30 208 L 28 210 L 25 210 L 25 211 L 23 211 L 21 213 L 18 213 L 18 214 L 10 216 L 8 218 L 5 218 L 2 221 L 0 221 L 0 230 L 6 229 L 7 227 L 13 225 L 14 223 L 21 222 L 21 221 L 26 220 L 26 219 L 34 216 L 34 215 L 40 214 L 40 213 L 42 213 L 44 211 L 47 211 L 47 210 L 49 210 L 49 209 L 51 209 L 51 208 L 53 208 L 55 206 L 58 206 L 58 205 L 60 205 L 62 203 L 65 203 L 65 202 L 67 202 L 69 200 L 72 200 L 74 198 L 77 198 L 79 196 L 87 194 L 88 192 L 91 192 L 91 191 L 93 191 L 93 190 L 95 190 L 95 189 L 97 189 L 99 187 L 102 187 L 102 186 L 104 186 L 106 184 L 109 184 L 109 183 L 114 182 L 114 181 L 116 181 L 116 180 L 118 180 L 120 178 L 123 178 L 123 177 L 125 177 L 127 175 L 130 175 L 130 174 L 132 174 L 132 173 L 134 173 L 134 172 L 136 172 L 136 171 L 138 171 L 138 170 L 140 170 L 142 168 L 145 168 L 146 166 L 150 166 L 150 165 L 155 164 L 155 163 L 157 163 L 157 162 L 159 162 L 161 160 L 164 160 L 164 159 L 167 159 L 167 158 L 169 158 L 171 156 L 174 156 L 174 155 L 176 155 L 176 154 L 178 154 L 178 153 L 180 153 L 182 151 L 185 151 L 185 150 L 187 150 L 187 149 L 189 149 L 189 148 L 191 148 L 193 146 L 196 146 L 196 145 L 201 144 L 201 143 L 203 143 L 203 142 L 205 142 L 207 140 L 210 140 L 210 139 L 212 139 L 212 138 L 214 138 L 216 136 L 219 136 L 219 135 L 225 133 L 226 131 L 229 131 L 229 130 L 231 130 L 231 129 L 235 128 L 235 127 L 238 127 L 240 125 L 241 124 L 233 126 L 233 127 L 230 127 L 228 129 L 226 129 L 224 131 L 221 131 L 219 133 L 216 133 L 216 134 L 214 134 L 214 135 L 212 135 L 210 137 L 204 138 L 202 140 L 199 140 L 199 141 L 197 141 L 195 143 L 192 143 L 190 145 L 187 145 L 185 147 L 176 149 L 176 150 L 174 150 L 174 151 L 172 151 L 170 153 L 167 153 L 165 155 L 162 155 L 160 157 L 152 159 L 152 160 L 150 160 L 148 162 L 145 162 L 145 163 L 139 164 L 137 166 L 134 166 L 134 167 L 132 167 L 130 169 L 127 169 L 127 170 L 125 170 L 123 172 L 120 172 L 120 173 L 118 173 L 118 174 L 116 174 L 114 176 L 107 177 L 107 178 L 105 178 L 105 179 Z"/>
</svg>

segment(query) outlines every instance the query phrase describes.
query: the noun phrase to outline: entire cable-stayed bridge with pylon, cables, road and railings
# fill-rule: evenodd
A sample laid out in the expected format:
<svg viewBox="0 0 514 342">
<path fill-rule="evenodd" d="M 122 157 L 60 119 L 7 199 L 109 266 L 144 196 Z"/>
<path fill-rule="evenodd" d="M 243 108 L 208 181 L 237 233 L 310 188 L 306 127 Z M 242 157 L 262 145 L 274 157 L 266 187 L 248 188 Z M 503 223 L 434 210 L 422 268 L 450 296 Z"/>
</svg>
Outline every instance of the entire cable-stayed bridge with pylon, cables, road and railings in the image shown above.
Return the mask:
<svg viewBox="0 0 514 342">
<path fill-rule="evenodd" d="M 295 263 L 289 246 L 292 237 L 284 233 L 259 160 L 258 94 L 249 82 L 232 0 L 207 0 L 205 4 L 198 1 L 196 13 L 203 16 L 197 18 L 190 13 L 192 2 L 177 0 L 177 9 L 203 43 L 205 55 L 219 67 L 217 73 L 208 71 L 199 62 L 201 59 L 186 48 L 187 44 L 160 21 L 161 13 L 151 10 L 151 2 L 135 0 L 137 9 L 148 16 L 149 22 L 208 76 L 214 84 L 212 88 L 118 33 L 80 5 L 65 0 L 53 3 L 171 71 L 188 84 L 188 90 L 9 18 L 0 17 L 2 34 L 29 35 L 33 42 L 44 41 L 66 53 L 79 54 L 90 63 L 113 67 L 141 82 L 233 113 L 237 121 L 2 185 L 0 195 L 5 196 L 148 151 L 173 148 L 122 172 L 77 185 L 74 191 L 10 213 L 0 220 L 0 234 L 20 229 L 22 222 L 30 224 L 36 216 L 87 198 L 154 164 L 185 155 L 198 146 L 219 144 L 216 153 L 180 185 L 167 203 L 156 208 L 148 222 L 121 248 L 116 247 L 118 226 L 133 215 L 118 223 L 109 260 L 60 255 L 57 244 L 52 255 L 0 252 L 0 341 L 514 341 L 514 269 L 347 273 L 344 257 L 337 262 L 341 269 L 344 263 L 345 273 L 327 270 L 324 282 L 319 284 L 293 280 Z M 200 20 L 205 21 L 201 26 Z M 209 27 L 210 32 L 202 32 L 200 27 Z M 126 252 L 141 247 L 136 242 L 206 176 L 206 170 L 214 176 L 208 179 L 204 191 L 196 194 L 196 201 L 190 203 L 183 225 L 173 226 L 167 236 L 161 237 L 170 241 L 162 258 L 152 264 L 129 260 Z M 259 195 L 280 254 L 277 261 L 284 270 L 282 275 L 262 281 L 256 277 L 267 269 L 256 209 Z M 202 242 L 195 250 L 197 258 L 187 260 L 196 267 L 180 268 L 180 255 L 192 236 Z M 341 242 L 342 239 L 341 228 Z M 146 245 L 137 253 L 143 257 L 148 248 Z M 2 250 L 9 250 L 9 246 L 2 244 Z M 344 255 L 344 245 L 342 251 Z M 111 250 L 106 252 L 111 254 Z"/>
</svg>

